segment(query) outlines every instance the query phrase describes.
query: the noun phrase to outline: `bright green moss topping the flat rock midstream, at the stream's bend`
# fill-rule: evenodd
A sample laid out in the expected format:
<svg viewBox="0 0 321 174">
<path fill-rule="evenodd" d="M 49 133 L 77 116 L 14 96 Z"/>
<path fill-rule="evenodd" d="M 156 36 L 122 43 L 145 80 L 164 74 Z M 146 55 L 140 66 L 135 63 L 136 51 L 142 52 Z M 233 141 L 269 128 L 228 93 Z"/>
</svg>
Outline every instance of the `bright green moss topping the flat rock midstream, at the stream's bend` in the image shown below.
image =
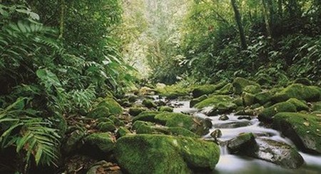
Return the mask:
<svg viewBox="0 0 321 174">
<path fill-rule="evenodd" d="M 220 103 L 233 103 L 233 98 L 227 95 L 214 95 L 209 97 L 208 99 L 204 99 L 202 102 L 195 104 L 195 107 L 198 109 L 202 109 L 204 107 L 213 107 Z"/>
</svg>

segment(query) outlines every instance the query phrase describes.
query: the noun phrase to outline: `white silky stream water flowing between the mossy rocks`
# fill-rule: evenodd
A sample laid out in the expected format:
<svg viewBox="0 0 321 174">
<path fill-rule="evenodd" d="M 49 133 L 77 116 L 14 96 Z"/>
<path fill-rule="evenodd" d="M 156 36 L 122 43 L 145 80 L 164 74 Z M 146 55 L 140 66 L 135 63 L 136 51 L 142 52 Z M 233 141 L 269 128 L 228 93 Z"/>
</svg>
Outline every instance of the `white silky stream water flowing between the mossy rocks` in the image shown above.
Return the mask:
<svg viewBox="0 0 321 174">
<path fill-rule="evenodd" d="M 220 121 L 220 116 L 205 116 L 205 114 L 198 112 L 198 109 L 190 108 L 190 101 L 172 100 L 169 104 L 174 107 L 174 112 L 183 112 L 211 119 L 213 127 L 210 129 L 210 132 L 215 129 L 220 129 L 220 131 L 222 131 L 222 136 L 218 138 L 219 141 L 228 141 L 235 136 L 238 136 L 240 133 L 252 132 L 256 136 L 269 138 L 274 141 L 281 141 L 290 144 L 291 146 L 295 146 L 290 139 L 283 137 L 279 131 L 268 129 L 261 125 L 256 116 L 252 116 L 252 119 L 248 120 L 238 119 L 238 116 L 228 114 L 228 120 Z M 208 134 L 203 138 L 210 139 L 212 137 Z M 220 146 L 220 161 L 216 165 L 214 173 L 321 173 L 321 156 L 313 156 L 302 152 L 300 152 L 300 154 L 304 158 L 305 163 L 301 168 L 293 170 L 282 168 L 279 165 L 255 158 L 235 156 L 228 153 L 226 146 Z"/>
</svg>

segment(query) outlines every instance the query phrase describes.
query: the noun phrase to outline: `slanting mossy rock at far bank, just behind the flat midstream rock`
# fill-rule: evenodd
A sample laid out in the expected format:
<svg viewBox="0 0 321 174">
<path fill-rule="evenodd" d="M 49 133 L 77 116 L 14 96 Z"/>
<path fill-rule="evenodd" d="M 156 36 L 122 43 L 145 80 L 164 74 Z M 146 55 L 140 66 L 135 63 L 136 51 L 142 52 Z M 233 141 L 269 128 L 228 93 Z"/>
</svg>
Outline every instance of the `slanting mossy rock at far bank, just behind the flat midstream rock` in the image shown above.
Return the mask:
<svg viewBox="0 0 321 174">
<path fill-rule="evenodd" d="M 218 85 L 203 85 L 200 87 L 195 87 L 192 91 L 193 97 L 197 98 L 197 97 L 200 97 L 204 94 L 212 94 L 213 92 L 215 92 L 218 89 L 223 88 L 227 84 L 228 84 L 228 82 L 224 81 L 224 82 L 218 83 Z"/>
</svg>

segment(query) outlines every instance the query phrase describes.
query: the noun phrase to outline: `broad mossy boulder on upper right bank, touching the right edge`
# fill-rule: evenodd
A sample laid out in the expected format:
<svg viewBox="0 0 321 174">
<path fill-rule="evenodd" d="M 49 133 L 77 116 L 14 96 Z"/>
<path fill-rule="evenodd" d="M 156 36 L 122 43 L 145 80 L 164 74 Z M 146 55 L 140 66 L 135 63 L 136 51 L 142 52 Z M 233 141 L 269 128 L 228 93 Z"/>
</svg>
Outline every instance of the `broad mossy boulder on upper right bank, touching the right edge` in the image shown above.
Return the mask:
<svg viewBox="0 0 321 174">
<path fill-rule="evenodd" d="M 305 86 L 302 84 L 293 84 L 282 91 L 277 92 L 272 97 L 273 102 L 284 102 L 287 99 L 295 98 L 307 102 L 319 101 L 321 97 L 321 88 L 315 86 Z"/>
</svg>

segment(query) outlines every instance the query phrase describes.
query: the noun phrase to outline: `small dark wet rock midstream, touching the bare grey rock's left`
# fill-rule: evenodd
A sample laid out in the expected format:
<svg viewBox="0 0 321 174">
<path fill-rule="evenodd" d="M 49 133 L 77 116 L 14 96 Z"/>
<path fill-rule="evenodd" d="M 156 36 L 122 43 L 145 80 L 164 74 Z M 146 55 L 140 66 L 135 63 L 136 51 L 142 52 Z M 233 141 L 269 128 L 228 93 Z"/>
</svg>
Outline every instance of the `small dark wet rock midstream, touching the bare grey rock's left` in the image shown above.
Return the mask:
<svg viewBox="0 0 321 174">
<path fill-rule="evenodd" d="M 228 141 L 228 151 L 230 153 L 248 153 L 254 148 L 256 148 L 256 141 L 252 133 L 240 134 Z"/>
</svg>

